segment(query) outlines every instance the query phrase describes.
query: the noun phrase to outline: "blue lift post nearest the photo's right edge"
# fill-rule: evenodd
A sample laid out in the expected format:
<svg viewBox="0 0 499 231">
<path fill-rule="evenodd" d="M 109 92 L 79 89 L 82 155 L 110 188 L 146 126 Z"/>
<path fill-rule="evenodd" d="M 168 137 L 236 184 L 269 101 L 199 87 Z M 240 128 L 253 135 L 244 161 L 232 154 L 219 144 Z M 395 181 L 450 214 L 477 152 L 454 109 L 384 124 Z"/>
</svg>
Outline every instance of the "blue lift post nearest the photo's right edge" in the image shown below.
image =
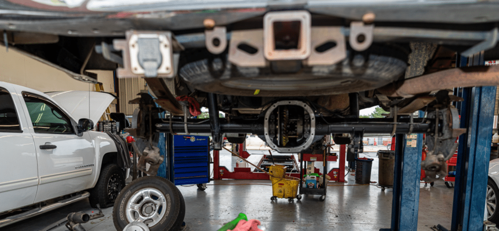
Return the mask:
<svg viewBox="0 0 499 231">
<path fill-rule="evenodd" d="M 469 63 L 484 65 L 483 52 Z M 466 59 L 458 64 L 466 65 Z M 468 132 L 459 137 L 451 231 L 482 231 L 496 87 L 464 88 L 457 93 L 464 99 L 458 105 L 461 127 Z"/>
</svg>

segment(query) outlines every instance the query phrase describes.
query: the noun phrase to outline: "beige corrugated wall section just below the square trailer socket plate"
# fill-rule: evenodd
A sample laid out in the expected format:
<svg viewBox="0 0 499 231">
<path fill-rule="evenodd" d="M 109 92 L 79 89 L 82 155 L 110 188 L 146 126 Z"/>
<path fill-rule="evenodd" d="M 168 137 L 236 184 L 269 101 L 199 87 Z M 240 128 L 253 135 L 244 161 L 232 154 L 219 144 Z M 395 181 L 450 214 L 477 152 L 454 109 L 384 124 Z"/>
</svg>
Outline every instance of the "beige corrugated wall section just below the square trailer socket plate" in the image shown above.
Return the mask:
<svg viewBox="0 0 499 231">
<path fill-rule="evenodd" d="M 133 115 L 133 111 L 139 105 L 128 104 L 130 100 L 137 98 L 141 90 L 146 90 L 146 81 L 143 78 L 119 79 L 120 111 L 125 115 Z"/>
</svg>

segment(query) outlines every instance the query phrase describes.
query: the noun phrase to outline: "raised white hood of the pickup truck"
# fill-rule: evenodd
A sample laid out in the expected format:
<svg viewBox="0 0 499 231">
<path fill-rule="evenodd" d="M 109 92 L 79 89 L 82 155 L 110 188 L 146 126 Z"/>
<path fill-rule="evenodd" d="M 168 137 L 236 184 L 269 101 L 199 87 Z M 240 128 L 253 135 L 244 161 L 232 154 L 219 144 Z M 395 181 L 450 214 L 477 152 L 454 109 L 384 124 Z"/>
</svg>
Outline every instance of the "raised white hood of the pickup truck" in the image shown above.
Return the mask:
<svg viewBox="0 0 499 231">
<path fill-rule="evenodd" d="M 66 109 L 73 118 L 89 118 L 96 124 L 116 96 L 105 92 L 67 91 L 48 92 L 57 104 Z"/>
</svg>

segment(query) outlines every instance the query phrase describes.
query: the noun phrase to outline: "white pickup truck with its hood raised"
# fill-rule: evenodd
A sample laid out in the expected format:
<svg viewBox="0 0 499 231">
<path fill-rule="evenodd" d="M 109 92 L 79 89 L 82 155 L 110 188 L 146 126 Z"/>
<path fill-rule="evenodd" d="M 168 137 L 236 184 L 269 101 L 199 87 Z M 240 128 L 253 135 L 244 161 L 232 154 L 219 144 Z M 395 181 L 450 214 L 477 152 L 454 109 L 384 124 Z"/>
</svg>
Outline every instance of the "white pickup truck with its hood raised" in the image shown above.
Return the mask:
<svg viewBox="0 0 499 231">
<path fill-rule="evenodd" d="M 126 143 L 75 116 L 85 108 L 91 115 L 91 105 L 98 119 L 104 111 L 92 102 L 106 105 L 98 94 L 105 93 L 57 93 L 70 110 L 55 97 L 0 82 L 0 228 L 85 198 L 94 208 L 113 205 L 130 168 Z"/>
</svg>

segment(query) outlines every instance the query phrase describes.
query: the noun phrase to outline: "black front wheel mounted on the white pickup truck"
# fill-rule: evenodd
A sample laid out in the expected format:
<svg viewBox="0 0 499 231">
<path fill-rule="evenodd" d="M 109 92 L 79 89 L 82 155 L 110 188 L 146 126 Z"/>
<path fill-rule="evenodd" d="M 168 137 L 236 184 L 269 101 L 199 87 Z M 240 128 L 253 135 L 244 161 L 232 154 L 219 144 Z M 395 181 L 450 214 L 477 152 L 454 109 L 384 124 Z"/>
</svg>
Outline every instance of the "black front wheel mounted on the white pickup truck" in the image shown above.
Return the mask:
<svg viewBox="0 0 499 231">
<path fill-rule="evenodd" d="M 108 164 L 102 167 L 95 187 L 90 190 L 88 201 L 92 208 L 101 208 L 113 206 L 116 197 L 121 189 L 125 187 L 125 177 L 123 171 L 116 164 Z"/>
</svg>

